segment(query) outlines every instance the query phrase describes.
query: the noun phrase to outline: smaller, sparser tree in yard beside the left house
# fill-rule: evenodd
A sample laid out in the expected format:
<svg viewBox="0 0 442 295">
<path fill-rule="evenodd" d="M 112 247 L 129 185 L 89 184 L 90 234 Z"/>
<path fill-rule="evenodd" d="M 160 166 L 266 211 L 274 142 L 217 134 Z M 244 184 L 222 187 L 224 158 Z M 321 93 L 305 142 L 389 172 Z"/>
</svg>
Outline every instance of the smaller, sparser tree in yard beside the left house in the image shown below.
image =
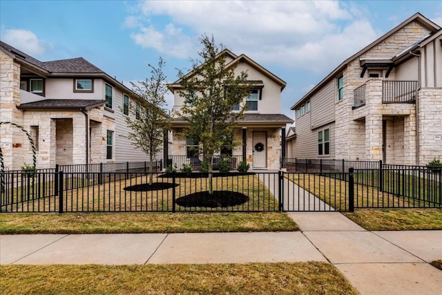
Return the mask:
<svg viewBox="0 0 442 295">
<path fill-rule="evenodd" d="M 164 61 L 160 57 L 157 67 L 148 65 L 151 68 L 151 77 L 138 84 L 132 84 L 132 91 L 140 99 L 130 105 L 131 113 L 135 117 L 127 116 L 126 123 L 132 131 L 125 137 L 132 140 L 132 144 L 149 155 L 148 171 L 153 171 L 153 158 L 161 151 L 164 140 L 164 131 L 168 128 L 170 118 L 166 115 L 167 92 L 166 76 L 163 73 Z M 149 184 L 153 182 L 153 175 L 150 175 Z"/>
</svg>

